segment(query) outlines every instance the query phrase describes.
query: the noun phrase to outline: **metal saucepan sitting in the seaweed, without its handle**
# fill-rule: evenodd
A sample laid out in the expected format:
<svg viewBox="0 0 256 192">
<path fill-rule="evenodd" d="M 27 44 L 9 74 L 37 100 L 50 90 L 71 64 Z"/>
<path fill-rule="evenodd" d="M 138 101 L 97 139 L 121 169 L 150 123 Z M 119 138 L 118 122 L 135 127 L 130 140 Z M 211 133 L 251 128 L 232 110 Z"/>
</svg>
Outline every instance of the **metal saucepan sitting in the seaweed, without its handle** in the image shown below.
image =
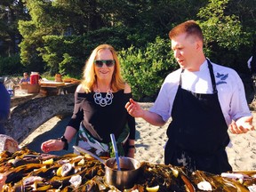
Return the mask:
<svg viewBox="0 0 256 192">
<path fill-rule="evenodd" d="M 105 163 L 105 179 L 108 185 L 119 190 L 132 188 L 140 173 L 140 162 L 130 157 L 119 157 L 121 171 L 117 171 L 116 158 L 109 158 Z"/>
</svg>

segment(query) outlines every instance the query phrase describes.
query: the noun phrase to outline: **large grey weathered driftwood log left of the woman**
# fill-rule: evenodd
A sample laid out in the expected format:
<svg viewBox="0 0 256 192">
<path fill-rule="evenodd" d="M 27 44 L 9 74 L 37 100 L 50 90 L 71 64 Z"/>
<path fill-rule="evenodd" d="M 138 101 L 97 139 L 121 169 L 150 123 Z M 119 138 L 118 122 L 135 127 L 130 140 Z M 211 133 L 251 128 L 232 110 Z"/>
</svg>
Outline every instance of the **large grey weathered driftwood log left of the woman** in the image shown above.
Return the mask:
<svg viewBox="0 0 256 192">
<path fill-rule="evenodd" d="M 74 93 L 28 100 L 12 110 L 5 123 L 6 135 L 19 143 L 53 116 L 68 116 L 74 108 Z"/>
</svg>

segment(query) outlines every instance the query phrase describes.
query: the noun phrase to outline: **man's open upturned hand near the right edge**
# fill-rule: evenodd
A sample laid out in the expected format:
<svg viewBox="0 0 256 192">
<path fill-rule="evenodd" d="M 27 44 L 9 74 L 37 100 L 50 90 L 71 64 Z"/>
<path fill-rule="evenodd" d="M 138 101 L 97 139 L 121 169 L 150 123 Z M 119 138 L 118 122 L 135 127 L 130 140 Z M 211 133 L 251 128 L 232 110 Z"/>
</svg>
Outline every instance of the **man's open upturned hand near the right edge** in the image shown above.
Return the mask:
<svg viewBox="0 0 256 192">
<path fill-rule="evenodd" d="M 228 129 L 234 134 L 241 134 L 254 130 L 252 125 L 252 116 L 244 116 L 229 124 Z"/>
</svg>

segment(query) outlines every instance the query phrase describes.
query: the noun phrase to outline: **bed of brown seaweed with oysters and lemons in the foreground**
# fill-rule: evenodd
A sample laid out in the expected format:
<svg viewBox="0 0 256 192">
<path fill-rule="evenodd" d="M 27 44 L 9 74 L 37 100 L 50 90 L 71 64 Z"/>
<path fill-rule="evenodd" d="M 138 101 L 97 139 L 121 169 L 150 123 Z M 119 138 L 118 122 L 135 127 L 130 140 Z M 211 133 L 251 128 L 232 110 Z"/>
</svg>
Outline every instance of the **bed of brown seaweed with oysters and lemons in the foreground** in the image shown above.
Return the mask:
<svg viewBox="0 0 256 192">
<path fill-rule="evenodd" d="M 91 156 L 52 156 L 28 148 L 0 154 L 0 191 L 118 191 L 104 180 L 105 167 Z M 188 172 L 182 167 L 141 163 L 125 191 L 256 191 L 255 172 Z"/>
</svg>

